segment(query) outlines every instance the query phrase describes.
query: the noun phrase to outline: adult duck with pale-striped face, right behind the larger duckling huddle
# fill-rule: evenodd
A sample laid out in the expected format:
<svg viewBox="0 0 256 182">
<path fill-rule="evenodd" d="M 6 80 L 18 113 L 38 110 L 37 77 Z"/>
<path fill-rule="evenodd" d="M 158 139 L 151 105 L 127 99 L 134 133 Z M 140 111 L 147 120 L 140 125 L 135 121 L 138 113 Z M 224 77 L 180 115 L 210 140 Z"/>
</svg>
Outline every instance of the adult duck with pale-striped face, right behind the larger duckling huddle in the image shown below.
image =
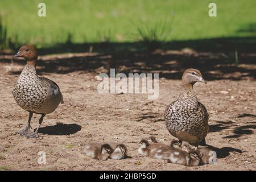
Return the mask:
<svg viewBox="0 0 256 182">
<path fill-rule="evenodd" d="M 164 114 L 168 131 L 179 139 L 196 146 L 205 146 L 205 137 L 209 132 L 209 115 L 203 104 L 197 101 L 193 85 L 203 82 L 203 76 L 197 69 L 187 69 L 182 76 L 182 89 L 179 98 L 167 106 Z"/>
</svg>

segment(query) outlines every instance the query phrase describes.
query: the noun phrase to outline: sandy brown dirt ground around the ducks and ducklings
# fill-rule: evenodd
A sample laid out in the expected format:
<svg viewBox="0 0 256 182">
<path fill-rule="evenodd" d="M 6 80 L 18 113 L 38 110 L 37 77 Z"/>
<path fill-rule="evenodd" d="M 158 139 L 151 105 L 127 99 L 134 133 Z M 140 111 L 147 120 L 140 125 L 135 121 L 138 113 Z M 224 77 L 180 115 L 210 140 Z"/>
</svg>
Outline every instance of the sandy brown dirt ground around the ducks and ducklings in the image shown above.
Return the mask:
<svg viewBox="0 0 256 182">
<path fill-rule="evenodd" d="M 216 56 L 214 58 L 214 56 Z M 245 60 L 255 60 L 245 55 Z M 151 60 L 147 62 L 145 60 Z M 220 64 L 204 54 L 177 52 L 153 55 L 69 54 L 42 56 L 38 74 L 59 84 L 65 104 L 46 115 L 38 139 L 27 139 L 17 132 L 28 119 L 27 111 L 14 101 L 12 88 L 24 61 L 0 60 L 0 167 L 3 170 L 255 170 L 256 81 L 255 64 L 240 67 Z M 115 60 L 115 61 L 113 61 Z M 158 61 L 155 61 L 158 60 Z M 193 62 L 199 60 L 198 62 Z M 119 66 L 119 62 L 124 63 Z M 209 61 L 209 63 L 207 62 Z M 113 63 L 114 62 L 114 63 Z M 214 63 L 213 63 L 214 62 Z M 207 64 L 206 64 L 207 63 Z M 181 74 L 198 68 L 208 81 L 194 90 L 210 115 L 207 143 L 215 147 L 217 163 L 185 167 L 138 155 L 141 138 L 154 135 L 168 144 L 164 110 L 179 95 Z M 119 72 L 160 72 L 159 98 L 147 94 L 99 94 L 96 76 L 117 68 Z M 154 68 L 154 69 L 153 69 Z M 32 118 L 33 129 L 40 115 Z M 124 143 L 131 158 L 93 160 L 82 150 L 89 142 Z M 39 151 L 46 152 L 46 164 L 38 164 Z"/>
</svg>

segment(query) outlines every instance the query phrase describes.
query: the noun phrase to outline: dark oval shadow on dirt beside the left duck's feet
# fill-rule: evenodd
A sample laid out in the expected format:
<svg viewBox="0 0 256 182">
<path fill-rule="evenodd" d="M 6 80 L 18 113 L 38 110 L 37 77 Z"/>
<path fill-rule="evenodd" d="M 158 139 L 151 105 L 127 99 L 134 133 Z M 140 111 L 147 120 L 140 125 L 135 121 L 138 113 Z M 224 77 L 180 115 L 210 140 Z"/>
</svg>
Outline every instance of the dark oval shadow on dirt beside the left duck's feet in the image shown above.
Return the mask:
<svg viewBox="0 0 256 182">
<path fill-rule="evenodd" d="M 73 124 L 63 124 L 58 123 L 54 126 L 46 126 L 39 129 L 39 133 L 47 135 L 70 135 L 75 134 L 81 130 L 81 126 L 76 123 Z"/>
</svg>

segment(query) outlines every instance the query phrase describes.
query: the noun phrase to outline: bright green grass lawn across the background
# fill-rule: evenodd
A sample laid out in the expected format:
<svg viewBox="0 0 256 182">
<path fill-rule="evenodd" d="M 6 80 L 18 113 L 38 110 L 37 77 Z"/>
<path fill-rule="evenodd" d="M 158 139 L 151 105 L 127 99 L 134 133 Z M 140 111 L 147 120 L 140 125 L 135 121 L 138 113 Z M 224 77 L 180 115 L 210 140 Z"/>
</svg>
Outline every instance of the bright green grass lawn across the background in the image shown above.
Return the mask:
<svg viewBox="0 0 256 182">
<path fill-rule="evenodd" d="M 46 3 L 46 17 L 37 15 L 40 2 Z M 217 17 L 208 16 L 210 2 L 217 3 Z M 8 38 L 42 47 L 68 41 L 137 42 L 145 36 L 139 32 L 144 24 L 154 30 L 166 18 L 173 18 L 170 36 L 165 32 L 154 39 L 255 36 L 255 7 L 255 0 L 1 0 L 0 16 Z"/>
</svg>

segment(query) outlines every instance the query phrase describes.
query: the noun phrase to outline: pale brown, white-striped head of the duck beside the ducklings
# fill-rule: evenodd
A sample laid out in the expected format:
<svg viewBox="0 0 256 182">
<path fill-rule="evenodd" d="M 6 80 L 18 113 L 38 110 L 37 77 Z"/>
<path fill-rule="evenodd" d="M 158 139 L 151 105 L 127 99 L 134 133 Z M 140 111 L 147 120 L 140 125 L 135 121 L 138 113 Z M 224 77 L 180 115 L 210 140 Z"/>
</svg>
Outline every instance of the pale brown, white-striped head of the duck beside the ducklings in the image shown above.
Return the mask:
<svg viewBox="0 0 256 182">
<path fill-rule="evenodd" d="M 207 83 L 206 81 L 204 81 L 204 78 L 199 70 L 189 68 L 183 73 L 183 76 L 182 76 L 183 85 L 187 85 L 187 84 L 193 85 L 197 81 L 203 82 L 204 84 Z"/>
</svg>

